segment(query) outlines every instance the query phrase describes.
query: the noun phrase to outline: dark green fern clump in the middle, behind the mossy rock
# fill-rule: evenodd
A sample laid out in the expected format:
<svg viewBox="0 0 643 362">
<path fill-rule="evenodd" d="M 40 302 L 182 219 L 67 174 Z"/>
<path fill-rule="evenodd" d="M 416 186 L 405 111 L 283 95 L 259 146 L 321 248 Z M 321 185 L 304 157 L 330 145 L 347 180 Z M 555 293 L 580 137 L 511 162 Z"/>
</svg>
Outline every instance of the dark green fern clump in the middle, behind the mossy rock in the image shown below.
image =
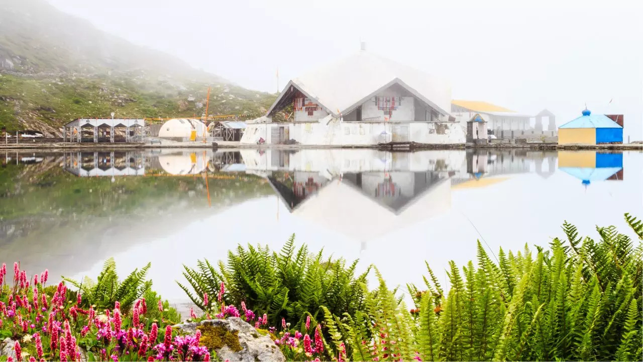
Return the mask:
<svg viewBox="0 0 643 362">
<path fill-rule="evenodd" d="M 363 309 L 368 270 L 356 275 L 357 265 L 358 261 L 323 259 L 322 251 L 311 254 L 305 245 L 296 249 L 293 235 L 279 253 L 267 246 L 239 245 L 236 252 L 228 252 L 228 262 L 219 262 L 218 267 L 207 259 L 199 260 L 196 269 L 184 265 L 189 287 L 179 286 L 198 307 L 210 311 L 215 308 L 204 305 L 203 296 L 216 301 L 224 283 L 226 305 L 244 301 L 258 315 L 266 313 L 271 325 L 281 325 L 284 318 L 293 327 L 303 326 L 307 316 L 323 314 L 322 306 L 335 315 Z"/>
</svg>

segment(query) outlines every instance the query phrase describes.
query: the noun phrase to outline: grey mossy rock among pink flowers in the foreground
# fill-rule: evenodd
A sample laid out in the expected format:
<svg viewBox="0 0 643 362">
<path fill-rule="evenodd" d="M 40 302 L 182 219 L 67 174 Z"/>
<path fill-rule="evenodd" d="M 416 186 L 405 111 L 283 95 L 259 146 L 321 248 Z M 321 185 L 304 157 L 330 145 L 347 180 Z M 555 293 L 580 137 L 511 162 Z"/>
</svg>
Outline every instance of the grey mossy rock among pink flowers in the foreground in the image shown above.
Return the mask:
<svg viewBox="0 0 643 362">
<path fill-rule="evenodd" d="M 217 358 L 230 361 L 285 361 L 284 354 L 275 345 L 269 336 L 257 332 L 255 327 L 249 325 L 241 318 L 230 317 L 227 319 L 208 319 L 200 323 L 183 323 L 175 325 L 186 333 L 194 334 L 199 325 L 213 325 L 223 327 L 230 332 L 238 332 L 241 350 L 234 352 L 228 346 L 216 350 Z"/>
</svg>

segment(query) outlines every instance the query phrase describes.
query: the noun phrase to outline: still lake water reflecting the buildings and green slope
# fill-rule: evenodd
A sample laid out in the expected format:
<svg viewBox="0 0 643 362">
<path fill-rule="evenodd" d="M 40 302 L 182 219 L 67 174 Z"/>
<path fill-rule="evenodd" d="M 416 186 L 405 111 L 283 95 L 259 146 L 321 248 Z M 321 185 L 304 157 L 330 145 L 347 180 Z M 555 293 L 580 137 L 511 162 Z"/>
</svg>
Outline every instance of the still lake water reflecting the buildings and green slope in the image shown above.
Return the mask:
<svg viewBox="0 0 643 362">
<path fill-rule="evenodd" d="M 181 264 L 226 258 L 238 243 L 377 265 L 390 285 L 421 283 L 428 261 L 581 234 L 628 231 L 643 216 L 643 153 L 373 149 L 134 150 L 0 154 L 0 262 L 96 278 L 152 262 L 164 298 L 184 300 Z M 207 175 L 207 178 L 206 178 Z M 532 247 L 533 249 L 533 247 Z M 51 277 L 50 277 L 51 278 Z"/>
</svg>

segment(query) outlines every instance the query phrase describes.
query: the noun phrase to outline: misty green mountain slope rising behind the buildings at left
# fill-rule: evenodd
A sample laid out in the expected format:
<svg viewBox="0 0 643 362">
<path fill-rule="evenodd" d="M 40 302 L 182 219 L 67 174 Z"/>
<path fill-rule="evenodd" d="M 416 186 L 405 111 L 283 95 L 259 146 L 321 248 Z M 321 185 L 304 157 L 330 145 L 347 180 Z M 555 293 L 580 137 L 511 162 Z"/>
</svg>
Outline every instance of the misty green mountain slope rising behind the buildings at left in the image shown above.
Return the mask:
<svg viewBox="0 0 643 362">
<path fill-rule="evenodd" d="M 136 25 L 132 24 L 132 32 Z M 0 127 L 60 135 L 78 117 L 260 114 L 274 95 L 246 90 L 131 44 L 45 0 L 0 0 Z"/>
</svg>

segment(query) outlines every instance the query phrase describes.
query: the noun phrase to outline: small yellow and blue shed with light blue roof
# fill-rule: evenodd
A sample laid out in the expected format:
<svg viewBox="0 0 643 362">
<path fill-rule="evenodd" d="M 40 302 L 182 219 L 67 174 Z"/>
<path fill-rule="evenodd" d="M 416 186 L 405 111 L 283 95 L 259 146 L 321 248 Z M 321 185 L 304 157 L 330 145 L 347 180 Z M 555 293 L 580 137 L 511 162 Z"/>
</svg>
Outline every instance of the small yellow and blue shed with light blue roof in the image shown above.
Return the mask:
<svg viewBox="0 0 643 362">
<path fill-rule="evenodd" d="M 623 127 L 606 115 L 583 115 L 558 128 L 558 144 L 622 144 Z"/>
</svg>

